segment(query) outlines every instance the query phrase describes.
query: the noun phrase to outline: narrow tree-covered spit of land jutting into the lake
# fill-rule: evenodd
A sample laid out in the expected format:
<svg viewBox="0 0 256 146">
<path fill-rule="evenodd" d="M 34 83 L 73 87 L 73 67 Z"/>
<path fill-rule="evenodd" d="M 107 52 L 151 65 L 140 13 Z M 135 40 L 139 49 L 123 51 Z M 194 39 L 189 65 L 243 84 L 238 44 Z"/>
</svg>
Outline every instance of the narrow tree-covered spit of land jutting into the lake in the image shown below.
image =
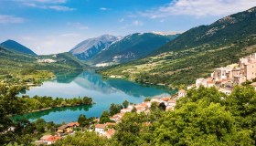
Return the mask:
<svg viewBox="0 0 256 146">
<path fill-rule="evenodd" d="M 23 112 L 33 111 L 33 110 L 43 110 L 47 108 L 55 107 L 67 107 L 67 106 L 80 106 L 80 105 L 92 105 L 92 99 L 88 97 L 83 98 L 72 98 L 72 99 L 62 99 L 62 98 L 52 98 L 52 97 L 38 97 L 34 96 L 29 98 L 28 96 L 23 96 L 21 98 L 22 104 L 24 106 Z"/>
</svg>

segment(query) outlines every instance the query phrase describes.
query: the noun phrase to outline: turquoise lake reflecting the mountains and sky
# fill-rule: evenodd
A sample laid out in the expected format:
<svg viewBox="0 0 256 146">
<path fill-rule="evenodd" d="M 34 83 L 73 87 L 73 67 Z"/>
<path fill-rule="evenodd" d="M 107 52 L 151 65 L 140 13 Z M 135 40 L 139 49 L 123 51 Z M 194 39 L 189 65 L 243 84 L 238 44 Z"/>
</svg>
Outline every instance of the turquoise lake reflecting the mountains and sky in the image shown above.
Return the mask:
<svg viewBox="0 0 256 146">
<path fill-rule="evenodd" d="M 146 97 L 168 96 L 175 93 L 176 90 L 144 86 L 124 79 L 103 79 L 94 71 L 57 75 L 57 78 L 45 81 L 42 86 L 27 90 L 25 95 L 67 99 L 87 96 L 91 97 L 96 104 L 91 107 L 65 107 L 37 111 L 19 115 L 16 118 L 27 118 L 31 121 L 41 118 L 55 123 L 77 121 L 80 114 L 87 117 L 100 117 L 101 112 L 108 110 L 112 103 L 122 104 L 124 100 L 141 103 Z"/>
</svg>

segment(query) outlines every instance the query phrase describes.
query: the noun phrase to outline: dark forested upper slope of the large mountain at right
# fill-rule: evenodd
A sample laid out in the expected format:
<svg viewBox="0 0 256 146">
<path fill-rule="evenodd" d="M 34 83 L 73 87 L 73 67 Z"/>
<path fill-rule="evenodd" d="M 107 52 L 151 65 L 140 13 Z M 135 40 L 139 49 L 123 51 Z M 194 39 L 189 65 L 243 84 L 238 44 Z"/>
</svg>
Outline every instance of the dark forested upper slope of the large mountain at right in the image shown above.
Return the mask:
<svg viewBox="0 0 256 146">
<path fill-rule="evenodd" d="M 202 44 L 216 45 L 239 40 L 241 37 L 256 33 L 255 7 L 219 19 L 209 26 L 197 26 L 177 37 L 176 40 L 166 44 L 155 52 L 161 54 L 169 51 L 186 50 Z"/>
</svg>

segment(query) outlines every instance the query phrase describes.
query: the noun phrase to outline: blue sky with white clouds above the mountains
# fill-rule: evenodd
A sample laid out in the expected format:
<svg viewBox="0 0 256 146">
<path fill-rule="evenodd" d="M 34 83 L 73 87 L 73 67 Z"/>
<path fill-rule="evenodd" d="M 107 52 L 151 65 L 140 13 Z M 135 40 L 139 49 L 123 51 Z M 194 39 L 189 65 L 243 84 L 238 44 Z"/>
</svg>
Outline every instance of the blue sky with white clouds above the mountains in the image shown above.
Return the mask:
<svg viewBox="0 0 256 146">
<path fill-rule="evenodd" d="M 55 54 L 104 34 L 185 32 L 253 6 L 256 0 L 0 0 L 0 42 Z"/>
</svg>

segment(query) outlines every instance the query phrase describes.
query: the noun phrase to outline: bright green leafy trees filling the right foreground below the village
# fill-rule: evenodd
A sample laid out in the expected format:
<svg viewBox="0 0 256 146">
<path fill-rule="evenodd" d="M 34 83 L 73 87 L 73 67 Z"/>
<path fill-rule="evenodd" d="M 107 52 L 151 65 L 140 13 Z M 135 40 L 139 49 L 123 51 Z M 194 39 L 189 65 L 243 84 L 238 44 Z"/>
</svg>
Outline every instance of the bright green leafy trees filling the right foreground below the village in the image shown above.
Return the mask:
<svg viewBox="0 0 256 146">
<path fill-rule="evenodd" d="M 256 91 L 252 87 L 236 87 L 229 96 L 215 88 L 190 89 L 174 111 L 164 111 L 155 104 L 150 111 L 126 113 L 109 141 L 94 133 L 85 135 L 99 140 L 91 145 L 256 144 Z M 56 145 L 72 145 L 74 141 L 87 145 L 86 137 L 80 133 Z"/>
</svg>

